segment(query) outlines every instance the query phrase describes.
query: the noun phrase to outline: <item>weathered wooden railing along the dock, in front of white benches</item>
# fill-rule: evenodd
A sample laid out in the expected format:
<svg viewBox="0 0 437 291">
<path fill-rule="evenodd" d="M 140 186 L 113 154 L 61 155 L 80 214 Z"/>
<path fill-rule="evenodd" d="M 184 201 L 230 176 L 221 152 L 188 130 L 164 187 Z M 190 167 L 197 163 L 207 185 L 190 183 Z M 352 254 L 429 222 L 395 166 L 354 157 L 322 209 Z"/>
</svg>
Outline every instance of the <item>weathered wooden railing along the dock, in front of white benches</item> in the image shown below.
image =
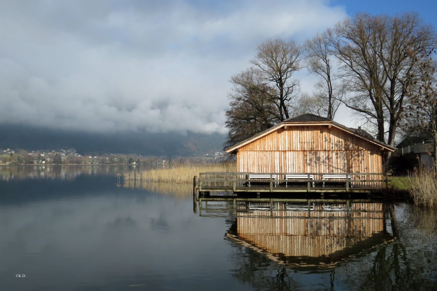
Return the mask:
<svg viewBox="0 0 437 291">
<path fill-rule="evenodd" d="M 199 191 L 334 191 L 388 187 L 388 173 L 199 173 Z M 286 179 L 286 177 L 297 177 Z M 305 177 L 306 176 L 306 177 Z M 339 178 L 336 179 L 335 176 Z M 305 178 L 304 178 L 305 177 Z M 324 179 L 329 177 L 329 179 Z M 342 178 L 340 178 L 342 177 Z"/>
</svg>

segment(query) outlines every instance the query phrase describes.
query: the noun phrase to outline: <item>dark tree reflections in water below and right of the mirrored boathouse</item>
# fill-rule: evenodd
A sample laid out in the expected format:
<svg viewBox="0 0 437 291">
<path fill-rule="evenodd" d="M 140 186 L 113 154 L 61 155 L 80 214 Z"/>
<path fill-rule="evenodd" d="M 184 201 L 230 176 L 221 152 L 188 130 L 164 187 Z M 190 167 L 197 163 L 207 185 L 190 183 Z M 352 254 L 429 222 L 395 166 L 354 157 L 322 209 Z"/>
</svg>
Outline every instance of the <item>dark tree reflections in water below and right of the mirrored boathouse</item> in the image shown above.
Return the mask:
<svg viewBox="0 0 437 291">
<path fill-rule="evenodd" d="M 435 227 L 427 229 L 424 226 L 435 222 L 437 212 L 424 213 L 406 204 L 392 209 L 395 213 L 388 221 L 396 224 L 399 239 L 364 250 L 348 262 L 336 264 L 335 268 L 288 268 L 255 249 L 236 244 L 232 253 L 232 261 L 236 263 L 234 276 L 257 290 L 295 290 L 309 286 L 314 290 L 334 290 L 335 287 L 344 290 L 437 290 Z M 312 277 L 306 277 L 307 274 Z"/>
</svg>

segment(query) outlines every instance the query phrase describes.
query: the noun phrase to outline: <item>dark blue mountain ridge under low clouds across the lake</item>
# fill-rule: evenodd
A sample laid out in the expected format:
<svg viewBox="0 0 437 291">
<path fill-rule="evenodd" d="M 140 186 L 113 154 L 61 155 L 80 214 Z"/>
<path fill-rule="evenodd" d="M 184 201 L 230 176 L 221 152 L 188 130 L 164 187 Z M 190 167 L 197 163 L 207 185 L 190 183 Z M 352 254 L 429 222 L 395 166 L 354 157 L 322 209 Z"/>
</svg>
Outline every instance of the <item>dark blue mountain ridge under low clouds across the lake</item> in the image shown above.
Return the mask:
<svg viewBox="0 0 437 291">
<path fill-rule="evenodd" d="M 0 148 L 60 149 L 74 148 L 78 153 L 122 153 L 150 156 L 203 156 L 221 152 L 226 135 L 187 132 L 90 133 L 37 128 L 25 125 L 2 125 Z"/>
</svg>

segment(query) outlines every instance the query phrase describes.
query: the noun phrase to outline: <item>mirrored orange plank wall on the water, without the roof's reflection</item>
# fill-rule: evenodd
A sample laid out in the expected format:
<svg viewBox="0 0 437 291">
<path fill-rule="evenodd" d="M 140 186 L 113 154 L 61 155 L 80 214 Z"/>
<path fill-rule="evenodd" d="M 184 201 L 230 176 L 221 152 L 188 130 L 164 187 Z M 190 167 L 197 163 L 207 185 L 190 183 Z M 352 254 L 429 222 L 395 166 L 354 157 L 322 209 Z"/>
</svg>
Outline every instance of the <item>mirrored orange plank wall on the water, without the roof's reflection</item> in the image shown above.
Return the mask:
<svg viewBox="0 0 437 291">
<path fill-rule="evenodd" d="M 381 203 L 352 203 L 346 211 L 324 211 L 317 205 L 310 218 L 306 211 L 239 213 L 239 238 L 268 253 L 285 256 L 329 256 L 360 241 L 382 235 Z M 276 215 L 278 215 L 276 217 Z"/>
</svg>

